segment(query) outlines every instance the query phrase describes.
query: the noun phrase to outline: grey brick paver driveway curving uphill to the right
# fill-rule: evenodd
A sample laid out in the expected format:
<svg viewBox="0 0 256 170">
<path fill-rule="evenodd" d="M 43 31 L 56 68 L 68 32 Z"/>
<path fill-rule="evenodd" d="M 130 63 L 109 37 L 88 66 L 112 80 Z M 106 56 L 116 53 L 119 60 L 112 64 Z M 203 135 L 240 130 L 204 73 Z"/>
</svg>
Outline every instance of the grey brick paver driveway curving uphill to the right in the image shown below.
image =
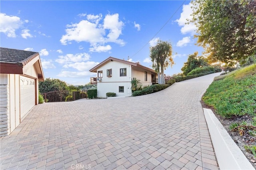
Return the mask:
<svg viewBox="0 0 256 170">
<path fill-rule="evenodd" d="M 138 97 L 39 104 L 0 169 L 218 169 L 200 98 L 214 76 Z"/>
</svg>

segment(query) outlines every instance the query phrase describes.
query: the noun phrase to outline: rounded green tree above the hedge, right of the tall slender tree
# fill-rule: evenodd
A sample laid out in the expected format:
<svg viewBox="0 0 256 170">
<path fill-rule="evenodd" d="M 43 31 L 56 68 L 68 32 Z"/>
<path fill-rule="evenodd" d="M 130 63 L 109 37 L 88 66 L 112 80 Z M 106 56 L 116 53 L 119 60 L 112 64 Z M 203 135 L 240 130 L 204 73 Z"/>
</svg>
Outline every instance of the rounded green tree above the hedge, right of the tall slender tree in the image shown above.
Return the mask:
<svg viewBox="0 0 256 170">
<path fill-rule="evenodd" d="M 185 76 L 195 68 L 209 65 L 204 57 L 202 56 L 198 57 L 197 55 L 198 55 L 198 52 L 188 55 L 188 61 L 184 63 L 183 67 L 181 68 Z"/>
</svg>

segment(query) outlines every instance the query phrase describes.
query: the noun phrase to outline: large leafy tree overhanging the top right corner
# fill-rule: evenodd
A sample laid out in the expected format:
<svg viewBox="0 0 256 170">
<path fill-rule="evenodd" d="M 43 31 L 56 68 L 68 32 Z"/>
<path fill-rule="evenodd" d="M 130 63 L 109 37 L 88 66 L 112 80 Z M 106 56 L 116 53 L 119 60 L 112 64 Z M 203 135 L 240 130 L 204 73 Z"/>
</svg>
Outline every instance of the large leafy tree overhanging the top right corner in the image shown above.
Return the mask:
<svg viewBox="0 0 256 170">
<path fill-rule="evenodd" d="M 194 0 L 192 22 L 208 59 L 232 64 L 256 54 L 255 0 Z"/>
</svg>

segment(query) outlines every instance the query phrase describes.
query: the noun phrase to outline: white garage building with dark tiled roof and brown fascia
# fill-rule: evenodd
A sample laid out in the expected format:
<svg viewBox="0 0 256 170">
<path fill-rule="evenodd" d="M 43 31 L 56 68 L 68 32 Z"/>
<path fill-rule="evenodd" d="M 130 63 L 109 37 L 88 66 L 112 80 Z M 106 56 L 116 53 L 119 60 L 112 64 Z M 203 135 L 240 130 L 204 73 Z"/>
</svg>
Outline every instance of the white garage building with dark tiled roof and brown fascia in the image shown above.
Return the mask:
<svg viewBox="0 0 256 170">
<path fill-rule="evenodd" d="M 0 136 L 10 134 L 38 104 L 44 81 L 39 54 L 0 48 Z"/>
</svg>

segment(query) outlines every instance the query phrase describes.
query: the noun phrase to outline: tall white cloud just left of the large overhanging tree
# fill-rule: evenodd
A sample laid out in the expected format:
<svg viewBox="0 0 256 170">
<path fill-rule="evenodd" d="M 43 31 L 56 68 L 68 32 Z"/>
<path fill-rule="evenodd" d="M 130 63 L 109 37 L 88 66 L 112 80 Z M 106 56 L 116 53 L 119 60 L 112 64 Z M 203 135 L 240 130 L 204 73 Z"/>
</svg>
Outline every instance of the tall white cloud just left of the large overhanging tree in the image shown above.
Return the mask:
<svg viewBox="0 0 256 170">
<path fill-rule="evenodd" d="M 194 25 L 193 23 L 186 24 L 186 22 L 188 22 L 187 19 L 192 19 L 192 16 L 190 16 L 193 13 L 191 6 L 191 3 L 188 5 L 183 5 L 180 18 L 176 20 L 176 22 L 178 22 L 178 25 L 182 27 L 180 30 L 182 34 L 190 33 L 192 35 L 195 33 L 196 30 L 196 25 Z"/>
</svg>

